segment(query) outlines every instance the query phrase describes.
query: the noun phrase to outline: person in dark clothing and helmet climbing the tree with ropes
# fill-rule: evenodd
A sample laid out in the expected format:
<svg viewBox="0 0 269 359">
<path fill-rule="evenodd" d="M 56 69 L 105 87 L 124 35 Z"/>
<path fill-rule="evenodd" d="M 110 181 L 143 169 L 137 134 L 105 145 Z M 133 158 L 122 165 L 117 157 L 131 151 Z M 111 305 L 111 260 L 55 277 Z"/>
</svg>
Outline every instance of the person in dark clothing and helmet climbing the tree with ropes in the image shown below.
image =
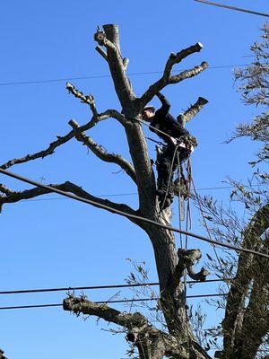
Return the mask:
<svg viewBox="0 0 269 359">
<path fill-rule="evenodd" d="M 180 163 L 186 161 L 194 150 L 196 140 L 180 122 L 169 114 L 170 103 L 161 92 L 157 93 L 157 97 L 161 101 L 161 108 L 155 111 L 153 106 L 146 106 L 143 109 L 143 119 L 151 123 L 152 132 L 165 142 L 157 154 L 158 189 L 156 194 L 161 206 L 166 208 L 173 199 L 173 173 L 178 165 L 178 156 L 175 151 L 178 148 Z"/>
</svg>

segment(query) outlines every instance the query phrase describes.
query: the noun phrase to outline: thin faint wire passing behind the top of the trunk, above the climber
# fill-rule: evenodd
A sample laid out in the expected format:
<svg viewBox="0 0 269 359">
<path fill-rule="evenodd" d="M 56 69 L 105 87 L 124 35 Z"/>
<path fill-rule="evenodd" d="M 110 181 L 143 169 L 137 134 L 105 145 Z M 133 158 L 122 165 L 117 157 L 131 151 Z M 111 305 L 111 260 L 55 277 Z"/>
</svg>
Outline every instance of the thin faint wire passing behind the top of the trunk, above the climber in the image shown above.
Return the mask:
<svg viewBox="0 0 269 359">
<path fill-rule="evenodd" d="M 222 69 L 222 68 L 230 68 L 230 67 L 239 67 L 239 66 L 247 66 L 246 64 L 240 65 L 224 65 L 224 66 L 209 66 L 207 69 Z M 178 72 L 179 70 L 172 70 L 171 72 Z M 137 76 L 143 74 L 162 74 L 163 71 L 149 71 L 149 72 L 141 72 L 141 73 L 129 73 L 128 76 Z M 99 79 L 99 78 L 109 78 L 111 74 L 97 74 L 91 76 L 81 76 L 81 77 L 64 77 L 57 79 L 48 79 L 48 80 L 33 80 L 33 81 L 18 81 L 13 83 L 0 83 L 0 86 L 14 86 L 21 84 L 35 84 L 35 83 L 61 83 L 66 81 L 73 80 L 88 80 L 88 79 Z"/>
</svg>

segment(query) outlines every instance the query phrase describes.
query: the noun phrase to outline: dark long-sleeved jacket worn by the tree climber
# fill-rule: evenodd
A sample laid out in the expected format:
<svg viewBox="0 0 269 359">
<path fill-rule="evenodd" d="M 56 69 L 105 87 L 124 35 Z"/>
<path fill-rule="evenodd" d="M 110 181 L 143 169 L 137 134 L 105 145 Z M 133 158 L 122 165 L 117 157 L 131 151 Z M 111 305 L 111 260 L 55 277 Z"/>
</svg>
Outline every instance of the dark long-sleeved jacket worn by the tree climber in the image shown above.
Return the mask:
<svg viewBox="0 0 269 359">
<path fill-rule="evenodd" d="M 167 144 L 171 143 L 169 136 L 177 139 L 180 136 L 189 135 L 187 129 L 169 114 L 169 101 L 167 101 L 160 92 L 157 94 L 157 96 L 161 101 L 161 109 L 157 109 L 154 117 L 152 118 L 150 127 L 152 132 L 161 137 L 161 139 L 163 139 Z M 160 129 L 162 132 L 165 132 L 169 136 L 165 136 L 155 129 Z"/>
</svg>

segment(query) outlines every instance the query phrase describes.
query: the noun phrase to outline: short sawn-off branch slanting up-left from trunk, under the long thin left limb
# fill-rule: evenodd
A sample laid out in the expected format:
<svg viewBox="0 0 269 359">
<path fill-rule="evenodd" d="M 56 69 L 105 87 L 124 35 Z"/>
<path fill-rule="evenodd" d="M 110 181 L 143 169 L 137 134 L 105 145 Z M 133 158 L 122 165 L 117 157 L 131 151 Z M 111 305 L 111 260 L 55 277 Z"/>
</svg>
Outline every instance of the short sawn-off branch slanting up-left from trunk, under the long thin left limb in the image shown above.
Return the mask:
<svg viewBox="0 0 269 359">
<path fill-rule="evenodd" d="M 79 124 L 74 120 L 69 121 L 69 125 L 71 127 L 79 128 Z M 100 160 L 104 162 L 113 162 L 120 166 L 126 173 L 134 180 L 136 183 L 136 175 L 134 171 L 134 167 L 130 162 L 127 162 L 123 157 L 119 154 L 108 153 L 100 144 L 96 144 L 90 136 L 86 136 L 83 132 L 78 132 L 75 135 L 75 138 L 86 144 L 88 148 L 90 148 L 91 152 L 94 153 Z"/>
</svg>

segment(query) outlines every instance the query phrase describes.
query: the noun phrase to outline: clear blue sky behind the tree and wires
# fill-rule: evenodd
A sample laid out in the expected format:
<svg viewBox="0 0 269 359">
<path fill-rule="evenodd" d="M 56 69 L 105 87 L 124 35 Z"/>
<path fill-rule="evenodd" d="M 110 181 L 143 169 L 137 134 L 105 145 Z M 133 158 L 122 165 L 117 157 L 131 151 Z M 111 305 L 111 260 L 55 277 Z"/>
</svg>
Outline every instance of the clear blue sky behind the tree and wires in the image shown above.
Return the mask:
<svg viewBox="0 0 269 359">
<path fill-rule="evenodd" d="M 222 1 L 224 3 L 224 0 Z M 255 11 L 268 12 L 266 0 L 225 1 Z M 266 6 L 267 5 L 267 6 Z M 197 41 L 200 54 L 178 68 L 206 60 L 210 66 L 242 65 L 251 61 L 249 46 L 258 38 L 265 18 L 195 3 L 100 2 L 70 0 L 37 2 L 24 0 L 1 4 L 1 163 L 47 147 L 56 135 L 69 131 L 75 118 L 80 124 L 91 117 L 87 107 L 68 95 L 65 81 L 10 84 L 69 77 L 108 74 L 108 67 L 95 51 L 93 33 L 97 25 L 117 23 L 121 48 L 130 58 L 129 73 L 161 71 L 169 52 L 177 52 Z M 130 76 L 140 96 L 160 74 Z M 76 87 L 95 96 L 97 108 L 119 108 L 109 77 L 74 80 Z M 250 173 L 253 144 L 238 141 L 222 144 L 235 124 L 256 114 L 239 101 L 232 68 L 208 69 L 184 83 L 169 86 L 164 93 L 176 116 L 198 96 L 209 100 L 188 129 L 199 140 L 193 155 L 197 188 L 223 186 L 228 176 L 246 180 Z M 153 103 L 158 106 L 158 99 Z M 145 129 L 148 134 L 148 130 Z M 129 157 L 126 139 L 115 121 L 108 120 L 92 130 L 92 137 L 109 152 Z M 149 143 L 152 158 L 154 145 Z M 12 171 L 46 183 L 71 180 L 92 194 L 133 193 L 134 185 L 116 165 L 97 160 L 73 141 L 46 159 L 17 165 Z M 1 176 L 1 183 L 14 189 L 29 188 Z M 228 198 L 227 190 L 204 191 Z M 126 219 L 58 196 L 46 200 L 4 206 L 1 220 L 1 290 L 53 286 L 106 285 L 123 283 L 131 270 L 126 258 L 145 260 L 150 279 L 157 280 L 152 247 L 146 235 Z M 47 200 L 51 198 L 51 200 Z M 110 197 L 109 197 L 110 198 Z M 41 199 L 41 198 L 40 198 Z M 111 197 L 136 208 L 136 197 Z M 193 232 L 204 230 L 197 215 Z M 208 245 L 190 241 L 190 247 L 210 252 Z M 194 287 L 189 293 L 213 293 L 210 285 Z M 92 292 L 92 300 L 107 300 L 115 291 Z M 132 293 L 122 292 L 122 296 Z M 0 306 L 61 302 L 65 293 L 1 295 Z M 198 301 L 193 301 L 196 305 Z M 117 305 L 117 308 L 124 307 Z M 211 310 L 213 319 L 219 314 Z M 124 337 L 112 337 L 96 327 L 95 320 L 77 319 L 59 308 L 0 311 L 0 347 L 10 359 L 125 357 Z M 106 324 L 104 325 L 106 327 Z"/>
</svg>

